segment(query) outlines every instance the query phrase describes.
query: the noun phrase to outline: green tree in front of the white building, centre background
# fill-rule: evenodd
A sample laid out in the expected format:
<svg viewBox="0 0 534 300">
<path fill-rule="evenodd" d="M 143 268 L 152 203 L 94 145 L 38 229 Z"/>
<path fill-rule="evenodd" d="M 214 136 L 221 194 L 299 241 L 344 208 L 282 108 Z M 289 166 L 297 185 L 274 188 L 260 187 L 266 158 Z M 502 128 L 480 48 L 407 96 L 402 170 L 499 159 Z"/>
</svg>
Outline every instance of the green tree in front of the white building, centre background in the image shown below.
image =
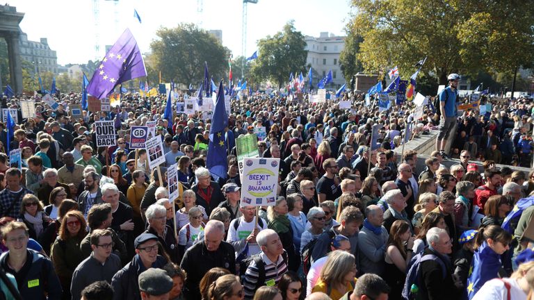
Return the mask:
<svg viewBox="0 0 534 300">
<path fill-rule="evenodd" d="M 268 35 L 259 40 L 259 56 L 252 62 L 252 74 L 257 80 L 271 80 L 281 88 L 291 72 L 306 72 L 306 41 L 296 31 L 293 21 L 273 37 Z"/>
</svg>

